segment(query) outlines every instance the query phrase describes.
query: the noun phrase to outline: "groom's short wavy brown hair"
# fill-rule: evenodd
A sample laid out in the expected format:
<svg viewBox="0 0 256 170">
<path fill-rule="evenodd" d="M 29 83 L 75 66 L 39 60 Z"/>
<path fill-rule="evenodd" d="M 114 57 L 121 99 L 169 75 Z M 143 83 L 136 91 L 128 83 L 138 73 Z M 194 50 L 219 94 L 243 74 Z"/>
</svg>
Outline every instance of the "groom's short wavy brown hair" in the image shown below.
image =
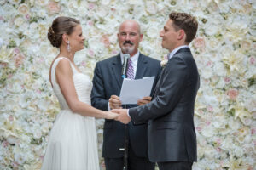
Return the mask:
<svg viewBox="0 0 256 170">
<path fill-rule="evenodd" d="M 185 42 L 192 42 L 195 38 L 198 23 L 194 16 L 187 13 L 177 13 L 173 12 L 169 14 L 170 20 L 172 20 L 172 26 L 176 31 L 183 30 L 186 33 Z"/>
</svg>

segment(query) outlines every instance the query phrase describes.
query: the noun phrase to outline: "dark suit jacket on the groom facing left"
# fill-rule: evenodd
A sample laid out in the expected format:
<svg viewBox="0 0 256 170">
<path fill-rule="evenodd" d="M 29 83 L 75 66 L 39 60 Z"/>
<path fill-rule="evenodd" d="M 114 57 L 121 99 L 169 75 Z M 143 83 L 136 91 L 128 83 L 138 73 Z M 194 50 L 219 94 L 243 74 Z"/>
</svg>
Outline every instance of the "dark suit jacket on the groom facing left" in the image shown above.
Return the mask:
<svg viewBox="0 0 256 170">
<path fill-rule="evenodd" d="M 200 86 L 189 48 L 169 59 L 153 100 L 129 109 L 134 123 L 148 122 L 148 156 L 153 162 L 196 161 L 195 97 Z"/>
</svg>

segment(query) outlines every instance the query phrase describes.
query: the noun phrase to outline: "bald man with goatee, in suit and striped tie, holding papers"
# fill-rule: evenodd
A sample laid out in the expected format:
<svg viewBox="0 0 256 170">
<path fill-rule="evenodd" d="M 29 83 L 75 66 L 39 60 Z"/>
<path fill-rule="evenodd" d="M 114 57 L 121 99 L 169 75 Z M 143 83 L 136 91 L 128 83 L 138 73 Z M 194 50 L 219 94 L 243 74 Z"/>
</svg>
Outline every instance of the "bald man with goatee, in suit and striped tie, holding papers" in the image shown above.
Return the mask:
<svg viewBox="0 0 256 170">
<path fill-rule="evenodd" d="M 120 53 L 98 62 L 94 71 L 91 105 L 103 111 L 131 108 L 147 104 L 151 100 L 150 96 L 145 96 L 137 101 L 137 105 L 122 105 L 119 94 L 123 82 L 121 73 L 124 54 L 131 56 L 127 64 L 127 78 L 155 77 L 151 95 L 160 77 L 160 61 L 141 54 L 138 50 L 143 33 L 137 21 L 125 20 L 121 23 L 117 37 Z M 123 170 L 125 153 L 128 154 L 128 170 L 154 170 L 154 163 L 148 160 L 147 147 L 147 124 L 135 126 L 130 122 L 125 135 L 124 124 L 105 120 L 102 156 L 106 170 Z"/>
</svg>

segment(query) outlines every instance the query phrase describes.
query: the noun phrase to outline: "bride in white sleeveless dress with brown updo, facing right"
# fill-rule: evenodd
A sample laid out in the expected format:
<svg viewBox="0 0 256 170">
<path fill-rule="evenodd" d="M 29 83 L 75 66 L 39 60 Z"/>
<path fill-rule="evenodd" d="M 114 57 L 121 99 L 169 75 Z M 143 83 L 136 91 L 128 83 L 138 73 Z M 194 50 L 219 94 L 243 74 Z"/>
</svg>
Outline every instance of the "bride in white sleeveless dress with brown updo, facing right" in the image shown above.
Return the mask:
<svg viewBox="0 0 256 170">
<path fill-rule="evenodd" d="M 49 134 L 43 170 L 98 170 L 96 118 L 114 119 L 117 114 L 90 106 L 92 83 L 74 64 L 75 52 L 84 48 L 79 20 L 56 18 L 49 27 L 50 43 L 60 48 L 50 66 L 49 80 L 61 112 Z"/>
</svg>

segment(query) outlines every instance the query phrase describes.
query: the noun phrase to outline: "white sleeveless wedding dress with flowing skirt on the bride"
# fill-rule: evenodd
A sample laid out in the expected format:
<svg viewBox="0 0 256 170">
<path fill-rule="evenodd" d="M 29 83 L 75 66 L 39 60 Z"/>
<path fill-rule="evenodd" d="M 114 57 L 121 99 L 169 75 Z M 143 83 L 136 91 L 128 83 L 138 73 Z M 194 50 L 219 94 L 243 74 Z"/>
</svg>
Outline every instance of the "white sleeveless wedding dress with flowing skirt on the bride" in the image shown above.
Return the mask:
<svg viewBox="0 0 256 170">
<path fill-rule="evenodd" d="M 55 59 L 51 69 L 51 82 L 61 112 L 56 116 L 49 134 L 42 170 L 99 170 L 95 118 L 81 116 L 68 108 L 55 80 L 55 68 L 61 59 L 67 58 Z M 71 62 L 70 65 L 79 100 L 90 105 L 90 77 L 77 71 Z"/>
</svg>

